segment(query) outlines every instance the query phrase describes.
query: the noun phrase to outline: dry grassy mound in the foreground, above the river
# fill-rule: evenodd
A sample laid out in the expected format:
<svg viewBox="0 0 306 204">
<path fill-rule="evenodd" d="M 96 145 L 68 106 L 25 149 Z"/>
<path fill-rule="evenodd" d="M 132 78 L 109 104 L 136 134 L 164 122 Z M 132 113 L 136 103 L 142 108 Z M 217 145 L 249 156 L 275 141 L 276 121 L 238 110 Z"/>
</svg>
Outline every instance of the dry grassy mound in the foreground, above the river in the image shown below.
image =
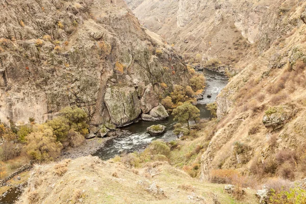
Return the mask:
<svg viewBox="0 0 306 204">
<path fill-rule="evenodd" d="M 36 166 L 18 203 L 242 203 L 223 187 L 200 183 L 166 162 L 136 169 L 84 157 Z"/>
</svg>

